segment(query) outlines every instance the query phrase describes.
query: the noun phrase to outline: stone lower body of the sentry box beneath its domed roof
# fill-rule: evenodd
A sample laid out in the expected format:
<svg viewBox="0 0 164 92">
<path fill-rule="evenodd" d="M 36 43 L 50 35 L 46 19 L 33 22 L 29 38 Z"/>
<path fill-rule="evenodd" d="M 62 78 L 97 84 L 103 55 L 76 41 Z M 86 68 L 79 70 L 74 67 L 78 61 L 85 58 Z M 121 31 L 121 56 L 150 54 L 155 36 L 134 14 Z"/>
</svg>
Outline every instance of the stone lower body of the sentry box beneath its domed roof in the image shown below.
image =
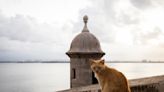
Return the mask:
<svg viewBox="0 0 164 92">
<path fill-rule="evenodd" d="M 71 88 L 98 83 L 90 68 L 89 59 L 100 59 L 102 54 L 71 54 L 70 57 Z"/>
</svg>

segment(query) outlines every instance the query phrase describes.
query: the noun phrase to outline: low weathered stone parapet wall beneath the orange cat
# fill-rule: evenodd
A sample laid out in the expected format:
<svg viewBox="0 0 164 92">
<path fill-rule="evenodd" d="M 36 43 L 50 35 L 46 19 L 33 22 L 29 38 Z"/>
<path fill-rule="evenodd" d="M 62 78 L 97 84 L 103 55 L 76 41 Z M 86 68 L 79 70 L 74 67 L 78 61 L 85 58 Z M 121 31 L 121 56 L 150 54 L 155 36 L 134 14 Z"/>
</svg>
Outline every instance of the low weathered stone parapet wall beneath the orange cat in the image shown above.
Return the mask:
<svg viewBox="0 0 164 92">
<path fill-rule="evenodd" d="M 129 81 L 132 92 L 164 92 L 164 75 Z M 72 88 L 59 92 L 101 92 L 98 84 Z"/>
</svg>

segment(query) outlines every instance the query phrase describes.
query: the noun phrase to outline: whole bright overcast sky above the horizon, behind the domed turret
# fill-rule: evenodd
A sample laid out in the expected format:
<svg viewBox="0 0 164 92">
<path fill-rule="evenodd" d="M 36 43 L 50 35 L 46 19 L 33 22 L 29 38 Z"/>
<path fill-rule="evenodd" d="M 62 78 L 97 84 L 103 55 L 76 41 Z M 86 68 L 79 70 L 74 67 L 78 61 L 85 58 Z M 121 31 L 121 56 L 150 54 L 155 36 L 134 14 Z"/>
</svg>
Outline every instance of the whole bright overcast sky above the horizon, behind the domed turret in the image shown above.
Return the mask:
<svg viewBox="0 0 164 92">
<path fill-rule="evenodd" d="M 163 0 L 0 0 L 0 61 L 69 60 L 83 16 L 106 60 L 164 60 Z"/>
</svg>

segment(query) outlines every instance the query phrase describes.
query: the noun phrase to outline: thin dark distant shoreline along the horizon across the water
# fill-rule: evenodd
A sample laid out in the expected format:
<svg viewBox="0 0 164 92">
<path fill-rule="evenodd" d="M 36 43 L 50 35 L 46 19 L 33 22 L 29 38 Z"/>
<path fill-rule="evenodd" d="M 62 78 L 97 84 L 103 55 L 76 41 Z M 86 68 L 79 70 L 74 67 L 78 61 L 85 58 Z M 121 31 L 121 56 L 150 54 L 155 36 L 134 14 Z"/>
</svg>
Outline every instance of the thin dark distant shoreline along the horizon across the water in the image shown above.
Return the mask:
<svg viewBox="0 0 164 92">
<path fill-rule="evenodd" d="M 0 63 L 70 63 L 70 61 L 0 61 Z M 164 63 L 164 61 L 107 61 L 106 63 Z"/>
</svg>

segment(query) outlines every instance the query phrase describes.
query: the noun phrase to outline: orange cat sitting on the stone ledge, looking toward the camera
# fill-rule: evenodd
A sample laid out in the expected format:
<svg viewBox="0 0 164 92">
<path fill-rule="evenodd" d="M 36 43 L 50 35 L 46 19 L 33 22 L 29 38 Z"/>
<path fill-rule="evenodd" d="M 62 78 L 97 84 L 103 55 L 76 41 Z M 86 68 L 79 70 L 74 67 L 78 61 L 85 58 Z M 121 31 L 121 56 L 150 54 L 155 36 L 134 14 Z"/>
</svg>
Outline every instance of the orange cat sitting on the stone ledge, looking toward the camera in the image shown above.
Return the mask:
<svg viewBox="0 0 164 92">
<path fill-rule="evenodd" d="M 131 92 L 126 77 L 119 71 L 109 68 L 104 60 L 90 60 L 102 92 Z"/>
</svg>

